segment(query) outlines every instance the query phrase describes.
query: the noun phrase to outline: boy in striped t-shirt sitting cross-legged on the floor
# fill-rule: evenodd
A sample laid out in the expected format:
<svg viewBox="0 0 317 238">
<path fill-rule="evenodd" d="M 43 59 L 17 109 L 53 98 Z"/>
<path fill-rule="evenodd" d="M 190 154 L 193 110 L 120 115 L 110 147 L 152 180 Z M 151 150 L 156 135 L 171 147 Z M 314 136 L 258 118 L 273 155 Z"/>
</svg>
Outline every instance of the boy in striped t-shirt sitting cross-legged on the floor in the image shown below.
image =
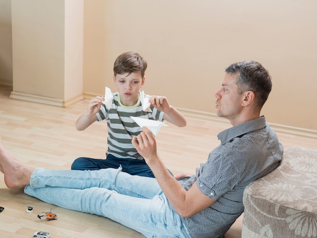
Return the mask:
<svg viewBox="0 0 317 238">
<path fill-rule="evenodd" d="M 144 111 L 140 89 L 145 83 L 146 61 L 134 52 L 118 56 L 113 66 L 113 80 L 117 93 L 113 94 L 108 109 L 102 102 L 103 97 L 90 100 L 83 115 L 76 121 L 78 131 L 85 130 L 96 121 L 106 120 L 108 125 L 107 158 L 77 158 L 71 165 L 72 170 L 99 170 L 122 167 L 123 172 L 131 175 L 154 177 L 143 157 L 132 145 L 133 137 L 142 131 L 130 116 L 150 120 L 168 121 L 178 127 L 186 126 L 185 117 L 171 106 L 166 97 L 148 96 L 151 112 Z"/>
</svg>

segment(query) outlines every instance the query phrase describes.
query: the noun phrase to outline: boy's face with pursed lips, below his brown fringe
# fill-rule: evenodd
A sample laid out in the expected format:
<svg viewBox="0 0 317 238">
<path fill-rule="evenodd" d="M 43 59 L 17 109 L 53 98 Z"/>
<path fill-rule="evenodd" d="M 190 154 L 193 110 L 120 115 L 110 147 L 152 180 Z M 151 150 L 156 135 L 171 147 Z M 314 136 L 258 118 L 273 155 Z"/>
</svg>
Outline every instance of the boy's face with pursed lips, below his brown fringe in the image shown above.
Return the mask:
<svg viewBox="0 0 317 238">
<path fill-rule="evenodd" d="M 113 75 L 114 84 L 120 94 L 121 103 L 125 106 L 133 106 L 139 99 L 139 91 L 144 85 L 145 76 L 141 72 L 123 73 Z"/>
</svg>

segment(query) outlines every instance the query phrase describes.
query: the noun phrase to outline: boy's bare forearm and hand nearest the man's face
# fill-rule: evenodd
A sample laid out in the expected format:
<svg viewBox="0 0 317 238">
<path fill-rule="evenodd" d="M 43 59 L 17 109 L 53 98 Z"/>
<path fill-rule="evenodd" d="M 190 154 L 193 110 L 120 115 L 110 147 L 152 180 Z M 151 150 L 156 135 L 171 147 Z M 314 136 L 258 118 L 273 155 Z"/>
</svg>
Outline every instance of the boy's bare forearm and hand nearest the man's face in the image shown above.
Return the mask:
<svg viewBox="0 0 317 238">
<path fill-rule="evenodd" d="M 178 127 L 186 126 L 186 118 L 180 113 L 175 107 L 170 105 L 166 97 L 162 96 L 151 96 L 149 99 L 151 105 L 153 105 L 157 110 L 163 111 L 163 119 L 173 123 Z"/>
</svg>

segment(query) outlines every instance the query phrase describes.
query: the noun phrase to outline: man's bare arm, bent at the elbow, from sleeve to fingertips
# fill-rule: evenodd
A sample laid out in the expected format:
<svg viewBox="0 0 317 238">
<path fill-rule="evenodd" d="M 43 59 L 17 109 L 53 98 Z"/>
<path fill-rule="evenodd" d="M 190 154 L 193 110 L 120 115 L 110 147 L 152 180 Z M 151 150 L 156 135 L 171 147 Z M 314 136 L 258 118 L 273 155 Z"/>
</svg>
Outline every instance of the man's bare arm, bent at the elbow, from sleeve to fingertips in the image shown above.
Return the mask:
<svg viewBox="0 0 317 238">
<path fill-rule="evenodd" d="M 132 144 L 144 157 L 177 213 L 180 216 L 189 217 L 211 206 L 215 200 L 202 193 L 196 183 L 186 191 L 168 172 L 157 153 L 154 136 L 147 128 L 142 129 L 143 132 L 132 139 Z"/>
</svg>

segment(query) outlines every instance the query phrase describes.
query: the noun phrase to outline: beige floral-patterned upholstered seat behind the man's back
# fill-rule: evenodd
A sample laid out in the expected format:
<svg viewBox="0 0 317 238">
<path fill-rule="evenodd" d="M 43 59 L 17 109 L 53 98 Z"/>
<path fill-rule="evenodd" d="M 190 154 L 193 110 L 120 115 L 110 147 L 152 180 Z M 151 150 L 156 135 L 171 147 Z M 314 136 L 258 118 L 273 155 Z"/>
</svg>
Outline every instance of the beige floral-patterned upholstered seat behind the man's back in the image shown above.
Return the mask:
<svg viewBox="0 0 317 238">
<path fill-rule="evenodd" d="M 284 149 L 278 168 L 246 187 L 242 237 L 317 237 L 317 150 Z"/>
</svg>

